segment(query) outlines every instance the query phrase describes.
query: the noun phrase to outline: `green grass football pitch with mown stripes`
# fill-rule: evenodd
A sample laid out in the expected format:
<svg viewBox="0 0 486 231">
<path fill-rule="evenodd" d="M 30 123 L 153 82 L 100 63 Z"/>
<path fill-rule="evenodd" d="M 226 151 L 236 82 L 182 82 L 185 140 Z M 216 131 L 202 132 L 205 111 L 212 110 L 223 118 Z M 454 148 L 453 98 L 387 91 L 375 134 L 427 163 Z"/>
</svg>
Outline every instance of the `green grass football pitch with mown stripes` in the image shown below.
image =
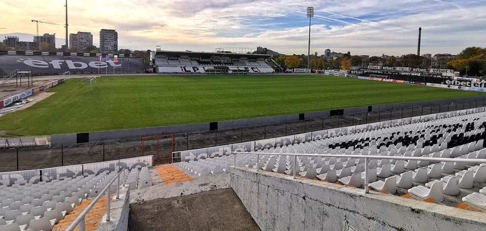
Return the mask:
<svg viewBox="0 0 486 231">
<path fill-rule="evenodd" d="M 103 77 L 98 87 L 69 80 L 56 94 L 0 118 L 9 135 L 153 127 L 480 93 L 323 75 Z"/>
</svg>

